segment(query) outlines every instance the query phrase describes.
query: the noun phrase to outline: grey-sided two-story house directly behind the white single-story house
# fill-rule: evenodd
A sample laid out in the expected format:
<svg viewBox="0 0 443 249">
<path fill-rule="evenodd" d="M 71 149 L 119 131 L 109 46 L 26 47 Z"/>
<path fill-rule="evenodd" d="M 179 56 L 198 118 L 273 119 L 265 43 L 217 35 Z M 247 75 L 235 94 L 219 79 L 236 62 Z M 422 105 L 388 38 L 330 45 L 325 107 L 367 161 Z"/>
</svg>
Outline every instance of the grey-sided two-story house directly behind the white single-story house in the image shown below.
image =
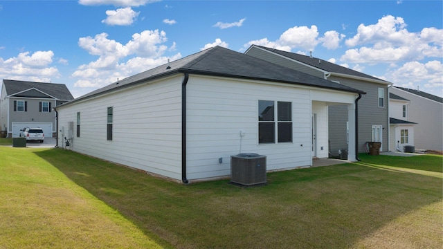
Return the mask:
<svg viewBox="0 0 443 249">
<path fill-rule="evenodd" d="M 366 94 L 362 95 L 358 103 L 359 152 L 365 151 L 365 142 L 381 142 L 381 151 L 388 150 L 388 86 L 391 85 L 390 82 L 323 59 L 264 46 L 253 45 L 246 50 L 245 54 L 364 91 Z M 330 105 L 328 113 L 329 151 L 332 156 L 336 156 L 340 149 L 347 146 L 349 140 L 346 128 L 349 127 L 347 107 Z"/>
</svg>

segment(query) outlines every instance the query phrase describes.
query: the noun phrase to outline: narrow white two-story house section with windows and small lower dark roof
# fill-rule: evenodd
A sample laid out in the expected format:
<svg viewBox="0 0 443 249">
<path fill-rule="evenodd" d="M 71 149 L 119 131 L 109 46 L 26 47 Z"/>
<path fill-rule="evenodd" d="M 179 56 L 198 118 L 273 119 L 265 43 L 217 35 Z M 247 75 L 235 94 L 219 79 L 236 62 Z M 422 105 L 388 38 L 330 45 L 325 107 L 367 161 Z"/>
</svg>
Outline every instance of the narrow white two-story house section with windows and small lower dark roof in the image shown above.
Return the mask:
<svg viewBox="0 0 443 249">
<path fill-rule="evenodd" d="M 414 125 L 408 115 L 409 100 L 389 93 L 390 151 L 404 151 L 405 146 L 414 146 Z"/>
</svg>

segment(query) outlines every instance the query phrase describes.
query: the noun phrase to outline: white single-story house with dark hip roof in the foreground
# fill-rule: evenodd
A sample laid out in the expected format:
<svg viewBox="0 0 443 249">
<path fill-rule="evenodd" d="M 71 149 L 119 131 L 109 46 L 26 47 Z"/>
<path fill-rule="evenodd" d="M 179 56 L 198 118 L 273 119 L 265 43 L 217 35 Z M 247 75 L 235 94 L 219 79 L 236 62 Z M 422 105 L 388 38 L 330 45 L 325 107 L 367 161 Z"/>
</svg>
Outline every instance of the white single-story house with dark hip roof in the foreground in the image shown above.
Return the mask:
<svg viewBox="0 0 443 249">
<path fill-rule="evenodd" d="M 328 105 L 353 124 L 359 94 L 216 46 L 57 107 L 57 144 L 183 183 L 230 176 L 239 153 L 265 155 L 268 171 L 309 167 L 312 147 L 328 156 Z"/>
</svg>

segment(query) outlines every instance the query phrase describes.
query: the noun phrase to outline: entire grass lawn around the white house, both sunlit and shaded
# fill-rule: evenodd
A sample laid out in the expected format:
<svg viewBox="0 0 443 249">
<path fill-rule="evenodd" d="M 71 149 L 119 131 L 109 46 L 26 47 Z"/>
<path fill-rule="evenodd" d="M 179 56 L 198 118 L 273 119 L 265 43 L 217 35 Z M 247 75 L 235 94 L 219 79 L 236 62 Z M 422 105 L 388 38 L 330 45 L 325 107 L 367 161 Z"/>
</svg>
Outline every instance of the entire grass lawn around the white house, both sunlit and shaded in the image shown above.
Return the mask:
<svg viewBox="0 0 443 249">
<path fill-rule="evenodd" d="M 245 188 L 0 147 L 0 248 L 441 248 L 442 156 L 360 158 Z"/>
</svg>

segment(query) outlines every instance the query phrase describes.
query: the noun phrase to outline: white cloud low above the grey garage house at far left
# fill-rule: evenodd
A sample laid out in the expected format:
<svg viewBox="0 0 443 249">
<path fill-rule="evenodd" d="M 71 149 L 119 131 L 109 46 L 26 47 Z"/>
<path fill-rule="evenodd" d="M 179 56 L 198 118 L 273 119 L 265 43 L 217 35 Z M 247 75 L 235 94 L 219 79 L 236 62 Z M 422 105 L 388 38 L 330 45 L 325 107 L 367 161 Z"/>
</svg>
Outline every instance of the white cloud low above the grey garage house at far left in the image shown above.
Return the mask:
<svg viewBox="0 0 443 249">
<path fill-rule="evenodd" d="M 60 77 L 58 69 L 51 66 L 54 53 L 36 51 L 19 53 L 17 57 L 9 59 L 0 58 L 0 78 L 10 80 L 33 80 L 50 82 L 54 77 Z"/>
</svg>

